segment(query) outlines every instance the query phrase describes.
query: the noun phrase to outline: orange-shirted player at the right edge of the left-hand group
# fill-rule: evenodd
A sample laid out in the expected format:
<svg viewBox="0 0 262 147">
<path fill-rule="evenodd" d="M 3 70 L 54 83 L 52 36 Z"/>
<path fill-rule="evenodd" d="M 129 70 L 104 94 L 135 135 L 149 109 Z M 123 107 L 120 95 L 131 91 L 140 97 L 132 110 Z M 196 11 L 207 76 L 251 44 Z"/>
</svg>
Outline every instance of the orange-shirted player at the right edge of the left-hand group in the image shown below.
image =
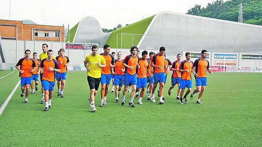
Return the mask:
<svg viewBox="0 0 262 147">
<path fill-rule="evenodd" d="M 60 72 L 57 72 L 57 87 L 60 96 L 64 97 L 64 89 L 66 87 L 66 74 L 67 74 L 67 65 L 69 63 L 68 56 L 65 56 L 65 49 L 60 48 L 60 56 L 56 57 Z"/>
</svg>

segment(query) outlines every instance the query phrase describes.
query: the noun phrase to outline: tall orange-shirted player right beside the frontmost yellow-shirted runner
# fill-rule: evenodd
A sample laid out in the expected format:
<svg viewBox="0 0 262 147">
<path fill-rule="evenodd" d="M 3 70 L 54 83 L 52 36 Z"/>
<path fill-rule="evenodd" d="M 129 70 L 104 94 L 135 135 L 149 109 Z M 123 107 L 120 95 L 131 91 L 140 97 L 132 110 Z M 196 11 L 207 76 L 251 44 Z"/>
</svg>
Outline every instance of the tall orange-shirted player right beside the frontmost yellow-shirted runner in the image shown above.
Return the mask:
<svg viewBox="0 0 262 147">
<path fill-rule="evenodd" d="M 100 107 L 106 105 L 107 93 L 109 90 L 110 81 L 112 78 L 112 67 L 115 67 L 115 60 L 114 57 L 109 53 L 110 52 L 110 45 L 104 45 L 104 53 L 101 53 L 105 58 L 106 67 L 102 68 L 101 74 L 101 103 Z"/>
</svg>

